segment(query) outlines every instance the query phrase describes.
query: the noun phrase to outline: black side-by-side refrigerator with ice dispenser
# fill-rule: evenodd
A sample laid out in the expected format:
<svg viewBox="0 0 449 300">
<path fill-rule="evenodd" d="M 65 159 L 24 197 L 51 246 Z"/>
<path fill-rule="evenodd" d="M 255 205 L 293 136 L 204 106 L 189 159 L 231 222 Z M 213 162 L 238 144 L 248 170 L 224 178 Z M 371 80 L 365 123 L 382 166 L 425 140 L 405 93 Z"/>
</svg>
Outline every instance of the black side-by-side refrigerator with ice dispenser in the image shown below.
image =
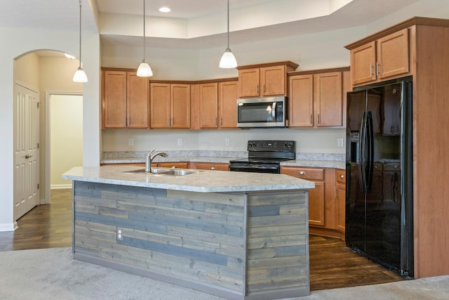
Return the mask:
<svg viewBox="0 0 449 300">
<path fill-rule="evenodd" d="M 346 244 L 413 278 L 411 77 L 347 94 Z"/>
</svg>

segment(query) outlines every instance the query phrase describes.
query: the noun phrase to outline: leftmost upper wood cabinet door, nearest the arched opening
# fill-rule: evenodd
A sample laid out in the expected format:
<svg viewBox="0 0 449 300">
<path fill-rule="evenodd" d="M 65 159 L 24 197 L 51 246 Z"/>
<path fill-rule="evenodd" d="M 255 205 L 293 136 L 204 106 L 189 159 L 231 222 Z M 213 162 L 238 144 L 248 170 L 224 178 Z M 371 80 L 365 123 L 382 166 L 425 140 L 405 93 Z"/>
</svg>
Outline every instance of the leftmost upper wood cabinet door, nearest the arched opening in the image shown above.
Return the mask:
<svg viewBox="0 0 449 300">
<path fill-rule="evenodd" d="M 126 128 L 126 72 L 105 71 L 105 128 Z"/>
</svg>

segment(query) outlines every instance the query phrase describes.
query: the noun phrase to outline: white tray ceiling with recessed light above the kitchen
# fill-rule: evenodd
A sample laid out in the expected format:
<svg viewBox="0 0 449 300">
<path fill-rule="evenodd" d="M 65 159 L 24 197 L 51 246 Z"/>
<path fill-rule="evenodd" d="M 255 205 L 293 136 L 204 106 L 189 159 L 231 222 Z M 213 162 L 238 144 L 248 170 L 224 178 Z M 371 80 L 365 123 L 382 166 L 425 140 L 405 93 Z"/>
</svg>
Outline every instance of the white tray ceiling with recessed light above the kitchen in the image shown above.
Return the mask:
<svg viewBox="0 0 449 300">
<path fill-rule="evenodd" d="M 416 1 L 418 0 L 230 0 L 232 44 L 366 25 Z M 102 44 L 142 44 L 142 0 L 82 0 L 82 4 L 83 30 L 98 32 Z M 164 28 L 153 36 L 149 30 L 147 39 L 152 46 L 223 46 L 227 20 L 226 0 L 147 0 L 145 5 L 145 15 L 150 24 L 153 19 L 166 20 L 165 24 L 184 22 L 187 32 L 183 37 L 166 37 L 163 35 Z M 160 6 L 169 6 L 172 11 L 160 13 Z M 117 20 L 112 25 L 119 30 L 114 32 L 114 26 L 108 27 L 105 20 L 109 20 L 109 24 Z M 129 24 L 122 24 L 123 20 L 131 21 Z M 133 27 L 133 22 L 135 32 L 120 30 L 122 25 Z M 220 30 L 215 29 L 217 25 L 220 25 Z M 7 1 L 0 10 L 0 27 L 78 30 L 79 1 Z M 192 28 L 195 32 L 191 36 L 189 32 Z"/>
</svg>

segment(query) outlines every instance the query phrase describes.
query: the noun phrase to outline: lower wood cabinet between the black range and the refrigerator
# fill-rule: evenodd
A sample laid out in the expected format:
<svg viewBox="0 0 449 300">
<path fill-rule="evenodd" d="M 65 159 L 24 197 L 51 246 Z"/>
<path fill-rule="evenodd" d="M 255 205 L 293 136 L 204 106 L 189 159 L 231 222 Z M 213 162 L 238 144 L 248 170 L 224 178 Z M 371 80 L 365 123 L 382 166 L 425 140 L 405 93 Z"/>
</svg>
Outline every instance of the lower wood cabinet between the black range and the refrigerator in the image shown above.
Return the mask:
<svg viewBox="0 0 449 300">
<path fill-rule="evenodd" d="M 309 190 L 309 233 L 344 240 L 345 178 L 339 177 L 337 183 L 337 171 L 339 176 L 344 174 L 344 170 L 333 168 L 281 167 L 281 174 L 315 183 Z"/>
</svg>

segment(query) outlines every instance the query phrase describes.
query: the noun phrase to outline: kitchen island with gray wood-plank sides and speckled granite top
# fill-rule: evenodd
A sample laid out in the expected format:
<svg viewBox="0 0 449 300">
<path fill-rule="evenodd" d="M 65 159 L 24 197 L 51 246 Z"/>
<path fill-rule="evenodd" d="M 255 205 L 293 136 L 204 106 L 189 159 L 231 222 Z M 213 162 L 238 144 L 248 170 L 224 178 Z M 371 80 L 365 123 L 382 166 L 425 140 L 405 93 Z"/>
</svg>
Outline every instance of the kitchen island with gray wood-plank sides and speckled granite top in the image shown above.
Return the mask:
<svg viewBox="0 0 449 300">
<path fill-rule="evenodd" d="M 309 294 L 308 189 L 282 174 L 75 167 L 74 259 L 226 299 Z M 150 295 L 149 295 L 150 296 Z"/>
</svg>

